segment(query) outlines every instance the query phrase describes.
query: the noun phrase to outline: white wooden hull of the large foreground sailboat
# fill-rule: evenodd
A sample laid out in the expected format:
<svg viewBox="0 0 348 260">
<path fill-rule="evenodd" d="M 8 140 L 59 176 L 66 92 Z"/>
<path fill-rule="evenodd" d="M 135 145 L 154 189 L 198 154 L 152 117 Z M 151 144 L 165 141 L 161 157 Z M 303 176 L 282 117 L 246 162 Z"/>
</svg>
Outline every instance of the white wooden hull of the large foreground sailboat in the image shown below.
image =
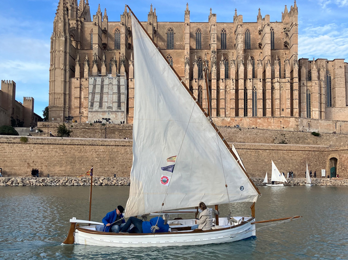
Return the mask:
<svg viewBox="0 0 348 260">
<path fill-rule="evenodd" d="M 236 218 L 236 217 L 235 217 Z M 238 218 L 236 218 L 238 219 Z M 207 232 L 169 232 L 162 234 L 114 234 L 101 233 L 89 229 L 77 228 L 75 231 L 75 244 L 113 246 L 113 247 L 162 247 L 205 245 L 213 243 L 226 243 L 238 241 L 251 236 L 256 236 L 254 218 L 245 217 L 248 222 L 243 222 L 235 227 L 215 229 Z M 226 226 L 224 226 L 226 227 Z"/>
</svg>

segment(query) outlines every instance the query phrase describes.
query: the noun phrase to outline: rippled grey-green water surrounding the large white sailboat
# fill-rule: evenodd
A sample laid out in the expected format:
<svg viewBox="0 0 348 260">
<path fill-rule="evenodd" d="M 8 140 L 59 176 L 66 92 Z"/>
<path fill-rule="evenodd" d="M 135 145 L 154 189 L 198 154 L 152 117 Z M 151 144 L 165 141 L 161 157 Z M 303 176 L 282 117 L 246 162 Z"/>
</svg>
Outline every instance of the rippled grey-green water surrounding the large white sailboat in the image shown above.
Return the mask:
<svg viewBox="0 0 348 260">
<path fill-rule="evenodd" d="M 76 216 L 88 219 L 89 187 L 1 187 L 0 259 L 348 259 L 347 187 L 261 187 L 257 220 L 303 218 L 257 231 L 233 243 L 119 249 L 61 245 Z M 129 187 L 93 188 L 92 220 L 101 221 Z M 234 213 L 249 214 L 249 205 Z M 221 215 L 227 213 L 221 207 Z M 258 226 L 263 227 L 263 226 Z"/>
</svg>

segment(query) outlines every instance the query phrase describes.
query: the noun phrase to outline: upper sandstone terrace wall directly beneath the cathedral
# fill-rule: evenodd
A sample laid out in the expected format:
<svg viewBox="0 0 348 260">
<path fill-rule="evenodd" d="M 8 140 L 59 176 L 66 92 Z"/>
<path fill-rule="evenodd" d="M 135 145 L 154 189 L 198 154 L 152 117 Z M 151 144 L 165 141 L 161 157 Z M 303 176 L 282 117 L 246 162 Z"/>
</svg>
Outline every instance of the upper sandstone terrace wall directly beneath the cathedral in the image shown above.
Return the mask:
<svg viewBox="0 0 348 260">
<path fill-rule="evenodd" d="M 101 123 L 71 123 L 70 126 L 72 130 L 71 137 L 76 138 L 132 139 L 133 136 L 132 124 L 107 124 L 103 126 Z M 58 123 L 39 122 L 38 128 L 43 130 L 43 133 L 33 133 L 32 135 L 47 137 L 50 131 L 53 135 L 56 135 L 57 127 Z M 218 128 L 228 142 L 348 145 L 348 135 L 339 134 L 339 132 L 337 134 L 321 133 L 319 137 L 316 137 L 311 132 L 225 126 L 219 126 Z"/>
</svg>

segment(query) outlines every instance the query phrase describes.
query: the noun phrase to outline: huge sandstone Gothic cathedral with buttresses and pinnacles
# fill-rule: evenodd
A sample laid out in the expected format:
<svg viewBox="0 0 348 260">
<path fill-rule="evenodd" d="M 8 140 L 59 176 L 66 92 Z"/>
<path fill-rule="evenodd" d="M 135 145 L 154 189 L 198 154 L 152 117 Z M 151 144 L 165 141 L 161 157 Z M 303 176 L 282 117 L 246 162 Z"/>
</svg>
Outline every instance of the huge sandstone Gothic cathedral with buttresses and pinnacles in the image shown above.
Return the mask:
<svg viewBox="0 0 348 260">
<path fill-rule="evenodd" d="M 290 11 L 285 6 L 281 22 L 260 9 L 255 22 L 243 22 L 237 10 L 229 23 L 217 23 L 212 9 L 208 22 L 190 22 L 188 4 L 183 13 L 184 22 L 158 22 L 151 5 L 141 24 L 203 108 L 209 100 L 218 125 L 346 120 L 348 64 L 298 59 L 296 1 Z M 132 123 L 134 62 L 127 8 L 120 22 L 111 22 L 100 5 L 91 17 L 88 0 L 60 0 L 51 38 L 50 121 Z"/>
</svg>

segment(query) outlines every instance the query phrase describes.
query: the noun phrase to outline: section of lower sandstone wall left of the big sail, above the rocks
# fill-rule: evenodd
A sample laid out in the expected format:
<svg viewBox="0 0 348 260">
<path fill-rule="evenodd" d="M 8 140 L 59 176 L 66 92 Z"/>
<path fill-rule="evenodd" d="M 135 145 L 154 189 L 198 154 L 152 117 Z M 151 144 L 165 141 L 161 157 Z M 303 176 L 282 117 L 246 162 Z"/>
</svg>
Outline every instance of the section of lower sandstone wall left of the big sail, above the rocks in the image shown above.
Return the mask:
<svg viewBox="0 0 348 260">
<path fill-rule="evenodd" d="M 38 168 L 40 176 L 82 175 L 94 166 L 96 176 L 129 176 L 133 142 L 129 140 L 75 139 L 0 136 L 0 167 L 4 176 L 31 176 Z"/>
</svg>

